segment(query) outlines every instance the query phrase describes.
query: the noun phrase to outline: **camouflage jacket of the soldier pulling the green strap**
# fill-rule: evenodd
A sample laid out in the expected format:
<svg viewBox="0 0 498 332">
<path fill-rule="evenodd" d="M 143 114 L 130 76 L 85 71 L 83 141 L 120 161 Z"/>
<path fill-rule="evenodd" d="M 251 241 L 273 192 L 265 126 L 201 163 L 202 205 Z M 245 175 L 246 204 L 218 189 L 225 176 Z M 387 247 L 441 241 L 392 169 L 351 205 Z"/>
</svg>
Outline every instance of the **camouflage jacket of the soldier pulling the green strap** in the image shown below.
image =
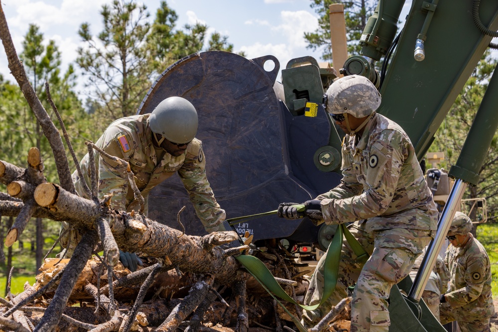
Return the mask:
<svg viewBox="0 0 498 332">
<path fill-rule="evenodd" d="M 346 135 L 341 183 L 322 200 L 326 223 L 367 222 L 366 231 L 435 230 L 438 212 L 410 139 L 375 113 L 362 137 Z"/>
</svg>

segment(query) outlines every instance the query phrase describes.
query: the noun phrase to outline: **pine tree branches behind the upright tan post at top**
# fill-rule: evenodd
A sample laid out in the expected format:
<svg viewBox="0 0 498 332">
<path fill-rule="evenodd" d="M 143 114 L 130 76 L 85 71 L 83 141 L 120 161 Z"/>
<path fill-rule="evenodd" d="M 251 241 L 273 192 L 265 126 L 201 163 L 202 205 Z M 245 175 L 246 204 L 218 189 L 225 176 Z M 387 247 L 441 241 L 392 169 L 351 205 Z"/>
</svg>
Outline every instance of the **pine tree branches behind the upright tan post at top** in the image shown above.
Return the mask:
<svg viewBox="0 0 498 332">
<path fill-rule="evenodd" d="M 330 11 L 329 6 L 333 3 L 344 4 L 344 15 L 346 19 L 346 37 L 348 40 L 348 53 L 350 55 L 360 54 L 360 37 L 365 29 L 368 18 L 375 10 L 377 1 L 341 1 L 341 0 L 311 0 L 311 7 L 320 15 L 318 29 L 314 32 L 306 32 L 304 38 L 308 42 L 307 48 L 316 51 L 322 49 L 323 60 L 332 59 L 332 45 L 330 41 Z M 341 64 L 342 65 L 342 64 Z"/>
</svg>

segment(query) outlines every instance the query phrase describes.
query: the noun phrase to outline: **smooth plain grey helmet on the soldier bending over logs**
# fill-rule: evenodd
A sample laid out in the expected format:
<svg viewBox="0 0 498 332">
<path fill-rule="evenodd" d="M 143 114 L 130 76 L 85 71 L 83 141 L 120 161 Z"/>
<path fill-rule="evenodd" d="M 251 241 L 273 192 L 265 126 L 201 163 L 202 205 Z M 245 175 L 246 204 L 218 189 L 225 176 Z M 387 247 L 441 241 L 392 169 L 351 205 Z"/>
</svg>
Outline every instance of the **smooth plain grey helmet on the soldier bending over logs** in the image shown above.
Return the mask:
<svg viewBox="0 0 498 332">
<path fill-rule="evenodd" d="M 177 144 L 185 144 L 194 139 L 198 124 L 195 107 L 181 97 L 166 98 L 156 106 L 149 117 L 152 132 Z"/>
</svg>

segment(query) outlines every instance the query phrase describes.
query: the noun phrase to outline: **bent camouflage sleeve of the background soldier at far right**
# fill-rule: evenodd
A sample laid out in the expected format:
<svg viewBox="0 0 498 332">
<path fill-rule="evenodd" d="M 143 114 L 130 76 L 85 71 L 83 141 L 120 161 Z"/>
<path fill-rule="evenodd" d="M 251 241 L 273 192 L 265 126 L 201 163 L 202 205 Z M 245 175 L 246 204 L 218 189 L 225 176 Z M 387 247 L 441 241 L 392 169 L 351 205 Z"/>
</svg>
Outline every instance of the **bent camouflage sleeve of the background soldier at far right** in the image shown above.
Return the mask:
<svg viewBox="0 0 498 332">
<path fill-rule="evenodd" d="M 479 258 L 470 258 L 467 261 L 465 276 L 460 276 L 465 287 L 446 293 L 446 302 L 451 307 L 461 307 L 475 301 L 482 293 L 487 263 Z"/>
</svg>

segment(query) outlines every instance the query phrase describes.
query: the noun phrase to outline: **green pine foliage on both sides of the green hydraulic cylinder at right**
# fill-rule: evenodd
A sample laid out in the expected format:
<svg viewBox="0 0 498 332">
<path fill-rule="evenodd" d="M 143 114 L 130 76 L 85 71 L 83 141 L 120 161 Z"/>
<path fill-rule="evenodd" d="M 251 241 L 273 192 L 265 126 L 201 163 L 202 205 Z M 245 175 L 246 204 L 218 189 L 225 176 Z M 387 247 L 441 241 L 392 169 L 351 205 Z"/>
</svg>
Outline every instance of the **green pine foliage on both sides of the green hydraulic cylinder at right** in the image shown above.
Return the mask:
<svg viewBox="0 0 498 332">
<path fill-rule="evenodd" d="M 456 164 L 496 65 L 497 59 L 493 58 L 489 51 L 486 52 L 436 132 L 429 152 L 443 151 L 445 153 L 445 160 L 440 167 L 448 170 L 451 165 Z M 469 187 L 464 195 L 464 199 L 486 199 L 489 222 L 498 221 L 497 141 L 498 133 L 495 133 L 479 172 L 479 184 L 476 187 Z"/>
</svg>

